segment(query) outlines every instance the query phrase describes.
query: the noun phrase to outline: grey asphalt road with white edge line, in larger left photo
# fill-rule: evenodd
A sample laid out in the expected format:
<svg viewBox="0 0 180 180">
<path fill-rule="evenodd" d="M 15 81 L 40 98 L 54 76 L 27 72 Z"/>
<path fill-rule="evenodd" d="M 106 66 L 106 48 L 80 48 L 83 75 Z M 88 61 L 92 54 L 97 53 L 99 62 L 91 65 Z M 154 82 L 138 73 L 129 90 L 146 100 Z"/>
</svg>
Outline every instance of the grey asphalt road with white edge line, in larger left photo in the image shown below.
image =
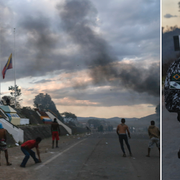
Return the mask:
<svg viewBox="0 0 180 180">
<path fill-rule="evenodd" d="M 122 157 L 115 132 L 92 134 L 28 167 L 27 180 L 159 180 L 159 151 L 154 147 L 146 157 L 148 141 L 147 135 L 132 134 L 133 157 Z"/>
</svg>

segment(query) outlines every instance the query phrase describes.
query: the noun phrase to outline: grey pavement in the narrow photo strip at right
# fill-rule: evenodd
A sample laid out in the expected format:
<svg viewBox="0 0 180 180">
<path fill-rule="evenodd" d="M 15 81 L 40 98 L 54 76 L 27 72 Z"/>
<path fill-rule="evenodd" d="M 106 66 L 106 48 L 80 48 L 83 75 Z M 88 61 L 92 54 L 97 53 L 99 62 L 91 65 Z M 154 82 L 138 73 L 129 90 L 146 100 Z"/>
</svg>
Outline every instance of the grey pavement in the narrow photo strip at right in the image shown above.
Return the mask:
<svg viewBox="0 0 180 180">
<path fill-rule="evenodd" d="M 168 112 L 164 103 L 162 110 L 162 177 L 163 180 L 179 180 L 180 159 L 177 152 L 180 149 L 180 123 L 177 120 L 177 113 Z"/>
</svg>

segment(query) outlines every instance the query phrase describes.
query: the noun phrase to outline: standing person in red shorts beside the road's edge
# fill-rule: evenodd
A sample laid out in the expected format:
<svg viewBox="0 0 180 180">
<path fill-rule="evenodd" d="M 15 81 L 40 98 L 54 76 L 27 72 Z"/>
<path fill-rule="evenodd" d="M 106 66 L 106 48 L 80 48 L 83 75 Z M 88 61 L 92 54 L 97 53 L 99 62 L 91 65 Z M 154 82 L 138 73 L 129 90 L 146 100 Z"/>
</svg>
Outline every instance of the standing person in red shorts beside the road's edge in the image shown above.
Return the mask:
<svg viewBox="0 0 180 180">
<path fill-rule="evenodd" d="M 54 118 L 54 121 L 51 124 L 51 134 L 52 134 L 52 148 L 54 148 L 55 139 L 56 139 L 56 147 L 58 148 L 60 128 L 59 128 L 59 124 L 57 123 L 56 118 Z"/>
</svg>

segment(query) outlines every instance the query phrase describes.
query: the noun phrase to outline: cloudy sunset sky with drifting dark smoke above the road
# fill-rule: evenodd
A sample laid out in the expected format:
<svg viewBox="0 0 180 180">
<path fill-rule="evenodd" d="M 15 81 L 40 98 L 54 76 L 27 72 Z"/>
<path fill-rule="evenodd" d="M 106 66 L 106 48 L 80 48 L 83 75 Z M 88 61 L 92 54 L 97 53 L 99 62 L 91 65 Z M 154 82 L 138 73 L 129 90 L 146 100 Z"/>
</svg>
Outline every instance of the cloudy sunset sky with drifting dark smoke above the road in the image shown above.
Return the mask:
<svg viewBox="0 0 180 180">
<path fill-rule="evenodd" d="M 14 29 L 15 28 L 15 29 Z M 16 84 L 22 106 L 39 93 L 60 113 L 144 117 L 159 104 L 157 0 L 0 0 L 1 96 Z"/>
</svg>

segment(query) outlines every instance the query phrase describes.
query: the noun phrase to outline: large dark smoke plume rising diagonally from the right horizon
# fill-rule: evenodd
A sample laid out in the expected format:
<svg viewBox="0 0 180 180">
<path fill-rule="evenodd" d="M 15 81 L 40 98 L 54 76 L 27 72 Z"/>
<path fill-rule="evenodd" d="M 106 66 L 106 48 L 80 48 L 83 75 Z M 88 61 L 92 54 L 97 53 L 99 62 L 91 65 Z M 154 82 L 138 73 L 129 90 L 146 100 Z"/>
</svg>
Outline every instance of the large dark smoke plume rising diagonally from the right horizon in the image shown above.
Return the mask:
<svg viewBox="0 0 180 180">
<path fill-rule="evenodd" d="M 105 39 L 94 32 L 97 11 L 90 1 L 67 0 L 57 6 L 64 30 L 81 48 L 95 84 L 110 83 L 159 96 L 159 66 L 148 69 L 118 63 Z"/>
</svg>

